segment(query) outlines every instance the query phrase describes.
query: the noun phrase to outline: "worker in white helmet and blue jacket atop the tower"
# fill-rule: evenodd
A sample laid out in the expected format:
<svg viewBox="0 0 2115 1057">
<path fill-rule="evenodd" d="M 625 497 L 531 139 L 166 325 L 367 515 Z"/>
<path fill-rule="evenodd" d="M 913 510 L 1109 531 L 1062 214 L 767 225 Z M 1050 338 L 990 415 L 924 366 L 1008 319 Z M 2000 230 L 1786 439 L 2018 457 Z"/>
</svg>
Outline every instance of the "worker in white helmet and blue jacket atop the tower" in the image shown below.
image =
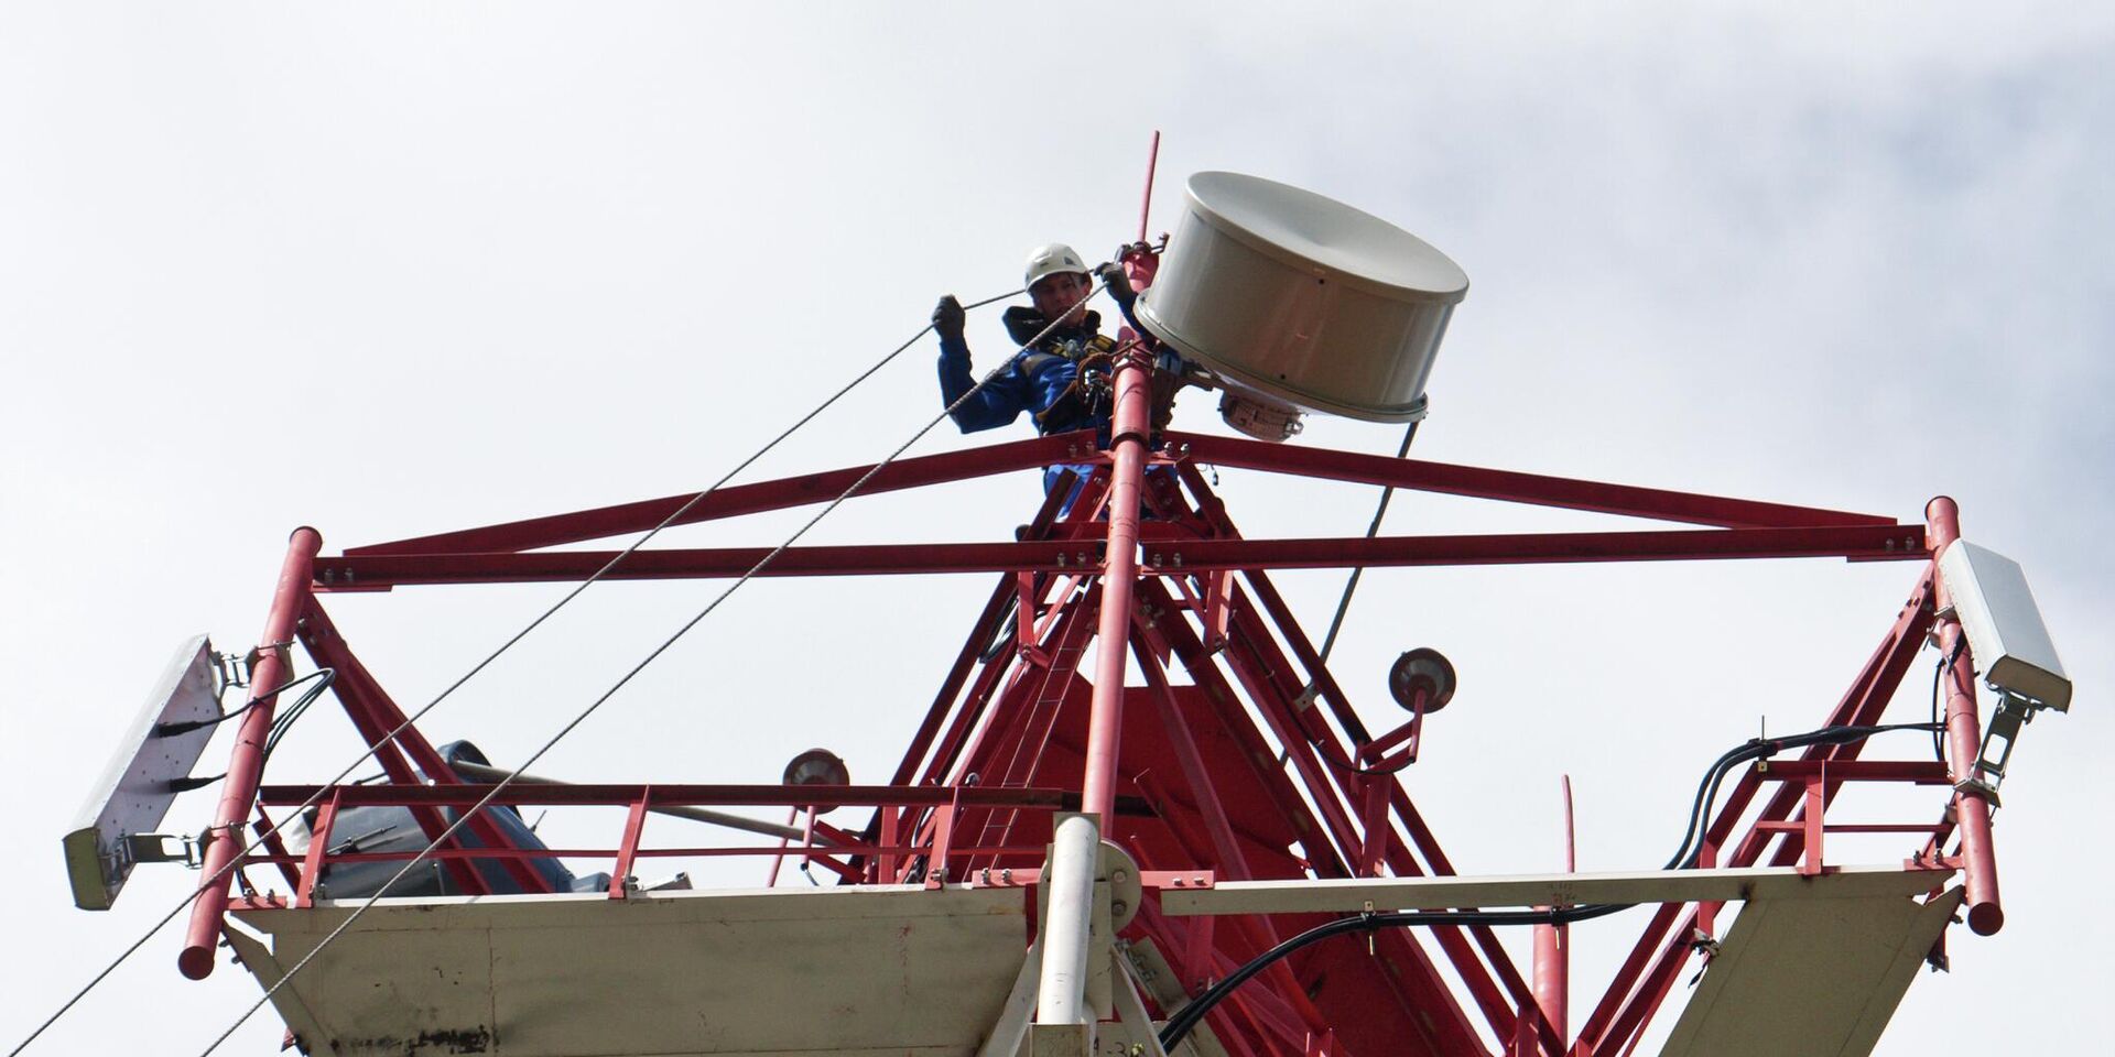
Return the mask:
<svg viewBox="0 0 2115 1057">
<path fill-rule="evenodd" d="M 933 307 L 933 332 L 939 334 L 939 393 L 956 427 L 964 433 L 996 429 L 1028 412 L 1041 433 L 1108 431 L 1108 355 L 1117 351 L 1117 340 L 1100 332 L 1102 315 L 1089 311 L 1087 300 L 1100 275 L 1125 321 L 1142 334 L 1144 328 L 1138 328 L 1132 315 L 1138 300 L 1132 275 L 1138 277 L 1138 285 L 1146 285 L 1159 262 L 1142 243 L 1125 247 L 1121 256 L 1123 264 L 1102 264 L 1089 273 L 1087 262 L 1064 243 L 1049 243 L 1028 254 L 1022 285 L 1028 288 L 1032 304 L 1015 304 L 1003 317 L 1007 336 L 1022 347 L 1022 353 L 981 389 L 971 374 L 969 340 L 962 336 L 962 302 L 954 294 L 939 298 Z M 1163 359 L 1167 361 L 1161 364 L 1163 370 L 1180 374 L 1178 357 L 1165 353 Z M 1081 478 L 1087 474 L 1087 467 L 1049 467 L 1045 488 L 1066 469 Z"/>
</svg>

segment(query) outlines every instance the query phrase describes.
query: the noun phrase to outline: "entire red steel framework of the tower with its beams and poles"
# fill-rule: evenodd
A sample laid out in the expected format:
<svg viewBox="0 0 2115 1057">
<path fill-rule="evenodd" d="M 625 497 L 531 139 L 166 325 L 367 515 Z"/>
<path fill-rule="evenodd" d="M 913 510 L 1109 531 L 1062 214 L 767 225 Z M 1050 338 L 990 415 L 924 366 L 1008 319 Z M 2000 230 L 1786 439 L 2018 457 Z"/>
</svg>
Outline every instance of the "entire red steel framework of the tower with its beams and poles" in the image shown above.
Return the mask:
<svg viewBox="0 0 2115 1057">
<path fill-rule="evenodd" d="M 700 803 L 871 805 L 863 831 L 812 822 L 791 854 L 823 865 L 842 884 L 1032 886 L 1060 812 L 1079 810 L 1098 835 L 1123 848 L 1148 892 L 1123 930 L 1167 960 L 1187 994 L 1326 922 L 1332 913 L 1163 913 L 1159 892 L 1229 882 L 1451 877 L 1415 799 L 1398 780 L 1402 757 L 1383 750 L 1415 731 L 1371 731 L 1320 662 L 1275 569 L 1529 564 L 1614 560 L 1709 560 L 1834 556 L 1923 562 L 1893 626 L 1855 674 L 1829 725 L 1874 723 L 1927 636 L 1952 649 L 1942 617 L 1933 554 L 1954 539 L 1950 501 L 1933 501 L 1931 524 L 1779 503 L 1597 484 L 1413 459 L 1271 446 L 1165 433 L 1146 438 L 1138 404 L 1146 376 L 1138 357 L 1117 370 L 1117 440 L 1051 435 L 886 465 L 867 493 L 922 488 L 1051 463 L 1085 467 L 1058 486 L 1011 543 L 840 545 L 785 550 L 757 575 L 996 573 L 983 611 L 948 666 L 886 786 L 514 786 L 495 803 L 622 803 L 628 824 L 613 850 L 520 850 L 484 818 L 474 839 L 453 839 L 438 858 L 465 892 L 489 890 L 474 863 L 501 863 L 518 890 L 546 890 L 529 858 L 601 854 L 615 860 L 609 894 L 624 898 L 637 858 L 681 854 L 789 854 L 776 848 L 643 848 L 645 812 Z M 1199 465 L 1246 467 L 1354 484 L 1385 484 L 1510 503 L 1656 518 L 1679 531 L 1455 535 L 1379 539 L 1246 539 Z M 704 522 L 838 497 L 871 467 L 721 488 L 677 522 Z M 1066 509 L 1068 484 L 1079 495 Z M 415 583 L 584 579 L 611 552 L 552 552 L 563 543 L 641 533 L 692 497 L 586 509 L 510 524 L 427 535 L 317 556 L 313 531 L 296 533 L 273 600 L 258 685 L 283 679 L 283 645 L 298 641 L 336 668 L 334 691 L 355 729 L 376 746 L 385 786 L 273 786 L 260 797 L 260 744 L 271 704 L 245 717 L 216 833 L 269 827 L 269 808 L 319 797 L 317 835 L 302 856 L 266 841 L 247 856 L 275 865 L 307 905 L 328 852 L 330 818 L 353 803 L 410 805 L 429 837 L 491 791 L 463 782 L 417 729 L 393 742 L 404 712 L 336 632 L 319 596 Z M 615 579 L 732 577 L 766 548 L 641 550 Z M 1136 664 L 1142 687 L 1125 687 Z M 1971 657 L 1956 653 L 1948 704 L 1952 765 L 1861 761 L 1861 744 L 1815 746 L 1798 763 L 1745 772 L 1711 816 L 1700 867 L 1800 867 L 1823 873 L 1823 835 L 1895 829 L 1925 833 L 1914 867 L 1933 890 L 1965 873 L 1969 924 L 2001 922 L 1988 803 L 1971 782 L 1982 740 Z M 421 776 L 436 782 L 427 786 Z M 1937 824 L 1832 827 L 1823 812 L 1846 782 L 1946 784 Z M 1774 789 L 1770 789 L 1774 786 Z M 235 856 L 214 841 L 207 877 Z M 376 856 L 366 856 L 376 858 Z M 387 856 L 381 856 L 387 858 Z M 1055 882 L 1055 877 L 1049 877 Z M 258 896 L 252 907 L 283 905 Z M 203 892 L 184 970 L 212 968 L 228 882 Z M 1055 907 L 1055 903 L 1053 903 Z M 1667 903 L 1650 913 L 1631 956 L 1578 1030 L 1565 1023 L 1565 964 L 1514 964 L 1489 926 L 1383 930 L 1366 943 L 1322 943 L 1271 966 L 1208 1017 L 1225 1051 L 1468 1055 L 1626 1053 L 1684 972 L 1707 947 L 1719 903 Z M 1058 909 L 1049 911 L 1060 913 Z M 1542 947 L 1538 943 L 1538 947 Z M 1555 947 L 1550 947 L 1555 949 Z M 201 953 L 203 951 L 203 958 Z M 1451 983 L 1457 981 L 1457 983 Z M 1540 998 L 1538 998 L 1540 996 Z M 1555 998 L 1552 998 L 1555 996 Z M 1165 1017 L 1170 1008 L 1159 1008 Z"/>
</svg>

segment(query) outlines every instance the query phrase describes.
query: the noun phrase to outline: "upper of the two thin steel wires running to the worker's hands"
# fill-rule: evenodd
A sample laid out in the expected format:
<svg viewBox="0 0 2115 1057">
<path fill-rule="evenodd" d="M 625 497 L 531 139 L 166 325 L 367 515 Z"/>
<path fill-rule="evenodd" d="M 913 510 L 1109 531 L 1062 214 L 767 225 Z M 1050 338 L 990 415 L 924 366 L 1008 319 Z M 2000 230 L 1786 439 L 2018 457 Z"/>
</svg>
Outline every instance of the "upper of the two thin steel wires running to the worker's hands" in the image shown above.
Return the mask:
<svg viewBox="0 0 2115 1057">
<path fill-rule="evenodd" d="M 994 304 L 994 302 L 1007 300 L 1007 298 L 1017 296 L 1022 292 L 1024 290 L 1009 290 L 1005 294 L 996 294 L 996 296 L 990 296 L 990 298 L 983 298 L 983 300 L 975 300 L 975 302 L 964 304 L 962 311 L 981 309 L 986 304 Z M 1089 298 L 1093 294 L 1089 294 Z M 728 484 L 730 480 L 734 480 L 736 474 L 740 474 L 742 469 L 749 469 L 751 465 L 755 465 L 757 459 L 764 459 L 766 452 L 770 452 L 780 442 L 785 442 L 795 431 L 799 431 L 804 425 L 808 425 L 810 421 L 814 421 L 814 416 L 823 414 L 831 404 L 835 404 L 846 393 L 850 393 L 852 389 L 857 389 L 861 383 L 865 383 L 867 378 L 871 378 L 878 370 L 882 370 L 884 366 L 888 366 L 895 357 L 903 355 L 903 351 L 909 349 L 912 345 L 918 345 L 931 332 L 933 332 L 933 323 L 926 323 L 924 328 L 920 328 L 916 334 L 909 336 L 909 340 L 905 340 L 903 345 L 897 345 L 888 355 L 884 355 L 882 359 L 878 359 L 871 368 L 859 372 L 859 376 L 854 376 L 842 389 L 838 389 L 835 393 L 831 393 L 829 400 L 825 400 L 823 404 L 816 404 L 814 410 L 810 410 L 808 414 L 802 414 L 793 425 L 789 425 L 785 431 L 780 431 L 768 444 L 764 444 L 761 448 L 757 448 L 749 459 L 742 459 L 734 469 L 725 471 L 719 480 L 715 480 L 713 484 L 709 484 L 702 493 L 689 497 L 687 503 L 683 503 L 673 514 L 668 514 L 666 518 L 662 518 L 660 524 L 656 524 L 654 528 L 647 528 L 645 535 L 641 535 L 637 541 L 632 541 L 632 545 L 624 548 L 613 558 L 609 558 L 609 562 L 605 562 L 601 569 L 596 569 L 588 579 L 580 581 L 580 586 L 575 586 L 563 598 L 558 598 L 556 602 L 552 602 L 550 609 L 546 609 L 541 615 L 537 615 L 535 619 L 531 619 L 522 630 L 514 632 L 514 636 L 510 636 L 505 643 L 499 643 L 499 649 L 491 651 L 484 660 L 480 660 L 476 666 L 472 666 L 467 672 L 463 672 L 461 679 L 457 679 L 455 683 L 448 683 L 448 687 L 442 689 L 431 702 L 427 702 L 417 712 L 412 712 L 410 717 L 406 717 L 404 723 L 398 723 L 393 729 L 389 729 L 387 734 L 383 734 L 383 738 L 379 742 L 374 742 L 366 753 L 362 753 L 357 759 L 353 759 L 351 763 L 347 763 L 345 769 L 341 769 L 332 780 L 328 780 L 321 786 L 317 786 L 317 793 L 311 795 L 307 801 L 302 801 L 292 812 L 288 812 L 286 818 L 298 818 L 300 812 L 307 812 L 309 808 L 313 808 L 321 799 L 321 791 L 324 789 L 343 782 L 345 776 L 353 774 L 355 767 L 360 767 L 362 763 L 366 763 L 368 759 L 372 759 L 374 753 L 383 744 L 396 742 L 396 738 L 400 734 L 404 734 L 406 729 L 410 729 L 415 723 L 419 723 L 419 719 L 423 719 L 427 712 L 431 712 L 440 702 L 448 700 L 448 696 L 453 696 L 465 683 L 470 683 L 472 679 L 476 679 L 484 668 L 489 668 L 493 662 L 497 662 L 499 655 L 503 655 L 505 651 L 514 649 L 516 643 L 520 643 L 522 638 L 527 638 L 529 632 L 537 630 L 544 622 L 548 622 L 552 615 L 556 615 L 560 609 L 565 609 L 573 598 L 580 598 L 582 592 L 586 592 L 599 579 L 603 579 L 605 575 L 609 575 L 609 571 L 615 569 L 620 562 L 624 562 L 624 558 L 630 558 L 632 552 L 637 552 L 649 539 L 654 539 L 656 535 L 660 535 L 662 528 L 668 528 L 670 524 L 675 524 L 677 518 L 681 518 L 683 514 L 689 514 L 709 495 L 717 493 L 723 484 Z M 1041 336 L 1038 336 L 1038 340 L 1041 340 Z M 926 427 L 926 429 L 931 429 L 931 427 Z M 302 676 L 302 679 L 311 679 L 311 676 Z M 286 687 L 273 689 L 266 696 L 254 698 L 252 702 L 243 704 L 243 708 L 239 708 L 239 710 L 247 710 L 254 704 L 262 702 L 264 698 L 277 698 L 283 689 L 288 689 L 294 683 L 288 683 Z M 161 932 L 169 922 L 176 920 L 176 915 L 184 913 L 184 907 L 190 907 L 201 894 L 205 894 L 207 886 L 220 884 L 222 877 L 226 877 L 231 871 L 235 871 L 235 867 L 243 860 L 243 856 L 247 856 L 250 852 L 254 852 L 260 843 L 264 843 L 275 833 L 279 833 L 279 822 L 273 822 L 262 833 L 258 833 L 256 839 L 243 843 L 243 848 L 239 852 L 235 852 L 235 858 L 231 858 L 226 867 L 222 867 L 212 877 L 205 877 L 188 896 L 184 896 L 182 903 L 178 903 L 176 907 L 171 907 L 167 915 L 163 915 L 159 922 L 154 922 L 146 930 L 146 934 L 142 934 L 137 941 L 133 941 L 129 947 L 125 947 L 108 966 L 104 966 L 102 972 L 97 972 L 93 979 L 89 979 L 89 983 L 82 985 L 78 991 L 74 991 L 74 996 L 68 998 L 63 1004 L 59 1004 L 57 1013 L 53 1013 L 49 1019 L 44 1019 L 44 1023 L 36 1025 L 36 1030 L 30 1032 L 27 1038 L 23 1038 L 21 1042 L 17 1042 L 15 1049 L 11 1049 L 6 1057 L 17 1057 L 23 1049 L 30 1046 L 30 1042 L 36 1042 L 38 1036 L 42 1036 L 53 1023 L 57 1023 L 59 1017 L 66 1017 L 66 1013 L 70 1008 L 74 1008 L 74 1004 L 78 1004 L 82 998 L 89 996 L 89 991 L 93 991 L 97 985 L 102 985 L 104 979 L 108 979 L 110 972 L 114 972 L 127 958 L 131 958 L 135 951 L 140 951 L 140 947 L 146 947 L 146 941 L 154 939 L 154 932 Z M 226 839 L 235 839 L 235 831 L 233 829 L 228 831 Z"/>
</svg>

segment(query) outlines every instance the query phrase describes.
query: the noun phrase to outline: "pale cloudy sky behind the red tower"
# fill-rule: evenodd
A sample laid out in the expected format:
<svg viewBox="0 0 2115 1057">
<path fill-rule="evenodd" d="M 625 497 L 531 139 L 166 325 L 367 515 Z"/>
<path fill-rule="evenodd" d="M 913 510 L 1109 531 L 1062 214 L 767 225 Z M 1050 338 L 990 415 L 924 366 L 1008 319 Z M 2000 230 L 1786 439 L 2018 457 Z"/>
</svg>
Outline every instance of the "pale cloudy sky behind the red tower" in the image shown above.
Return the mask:
<svg viewBox="0 0 2115 1057">
<path fill-rule="evenodd" d="M 2115 869 L 2085 829 L 2115 679 L 2092 558 L 2115 516 L 2111 61 L 2115 15 L 2079 4 L 0 4 L 0 803 L 21 848 L 0 1042 L 195 884 L 142 869 L 114 911 L 76 911 L 59 837 L 169 651 L 254 643 L 290 528 L 336 554 L 702 488 L 939 294 L 1011 290 L 1043 241 L 1102 260 L 1136 235 L 1159 129 L 1153 230 L 1189 173 L 1231 169 L 1464 266 L 1423 459 L 1904 522 L 1961 501 L 1963 533 L 2026 569 L 2079 689 L 2003 789 L 2005 930 L 1954 930 L 1952 972 L 1918 977 L 1878 1053 L 2073 1049 L 2115 983 L 2115 926 L 2071 905 Z M 969 338 L 996 364 L 996 309 Z M 740 480 L 878 459 L 937 410 L 924 342 Z M 1201 395 L 1176 425 L 1225 431 Z M 943 427 L 912 452 L 1024 435 Z M 1313 419 L 1296 444 L 1398 435 Z M 1233 469 L 1220 493 L 1250 537 L 1356 535 L 1375 499 Z M 1034 501 L 1032 474 L 857 499 L 806 541 L 1007 539 Z M 1387 528 L 1631 524 L 1400 495 Z M 1392 725 L 1387 662 L 1455 662 L 1409 784 L 1464 873 L 1555 869 L 1565 774 L 1580 869 L 1643 869 L 1709 759 L 1821 721 L 1914 575 L 1377 571 L 1332 670 Z M 1320 632 L 1341 573 L 1282 583 Z M 423 727 L 525 759 L 719 590 L 596 586 Z M 884 780 L 983 592 L 753 583 L 537 769 L 774 782 L 825 744 Z M 558 594 L 328 605 L 412 708 Z M 1929 664 L 1889 719 L 1923 719 Z M 355 750 L 317 708 L 273 778 Z M 209 797 L 167 829 L 203 827 Z M 1861 803 L 1842 812 L 1935 814 Z M 1576 930 L 1576 1008 L 1631 930 Z M 201 1051 L 258 991 L 228 966 L 180 979 L 178 947 L 171 926 L 27 1053 Z M 266 1013 L 222 1053 L 277 1038 Z"/>
</svg>

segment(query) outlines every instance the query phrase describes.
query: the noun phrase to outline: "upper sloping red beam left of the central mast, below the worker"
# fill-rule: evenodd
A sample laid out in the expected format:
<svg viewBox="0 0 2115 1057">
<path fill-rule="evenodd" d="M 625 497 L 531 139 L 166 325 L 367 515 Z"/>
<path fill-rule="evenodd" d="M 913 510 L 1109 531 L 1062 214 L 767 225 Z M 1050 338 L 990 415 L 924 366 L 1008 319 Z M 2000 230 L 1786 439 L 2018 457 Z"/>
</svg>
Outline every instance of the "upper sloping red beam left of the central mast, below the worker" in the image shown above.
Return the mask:
<svg viewBox="0 0 2115 1057">
<path fill-rule="evenodd" d="M 945 484 L 950 480 L 988 478 L 992 474 L 1034 469 L 1051 463 L 1093 463 L 1100 459 L 1104 459 L 1104 455 L 1096 450 L 1093 431 L 1051 433 L 1047 438 L 992 444 L 988 448 L 901 459 L 882 467 L 873 480 L 861 486 L 859 495 L 922 488 L 926 484 Z M 823 474 L 804 474 L 799 478 L 719 488 L 700 499 L 670 524 L 694 524 L 766 509 L 827 503 L 844 495 L 846 488 L 871 469 L 873 465 L 857 465 Z M 698 493 L 685 493 L 664 499 L 647 499 L 641 503 L 622 503 L 613 507 L 580 509 L 573 514 L 552 514 L 548 518 L 486 524 L 482 528 L 436 533 L 398 539 L 391 543 L 370 543 L 366 548 L 351 548 L 345 554 L 455 554 L 556 548 L 563 543 L 580 543 L 584 539 L 645 533 L 677 509 L 683 509 L 683 505 L 696 497 Z"/>
</svg>

